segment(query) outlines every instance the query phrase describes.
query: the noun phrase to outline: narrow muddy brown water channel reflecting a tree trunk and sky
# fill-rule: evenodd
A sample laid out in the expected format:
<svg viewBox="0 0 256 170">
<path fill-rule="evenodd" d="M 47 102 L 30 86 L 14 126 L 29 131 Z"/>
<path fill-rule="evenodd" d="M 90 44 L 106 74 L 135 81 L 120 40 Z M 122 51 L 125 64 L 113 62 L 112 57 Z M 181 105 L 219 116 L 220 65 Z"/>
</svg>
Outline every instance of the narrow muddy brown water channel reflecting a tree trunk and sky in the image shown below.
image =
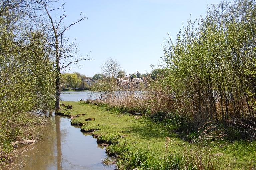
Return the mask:
<svg viewBox="0 0 256 170">
<path fill-rule="evenodd" d="M 23 153 L 11 169 L 24 170 L 113 170 L 102 160 L 108 158 L 105 148 L 98 145 L 91 134 L 80 132 L 79 126 L 71 126 L 70 119 L 52 118 L 54 125 L 46 127 L 47 138 L 32 145 L 19 147 Z M 110 158 L 111 159 L 111 158 Z"/>
</svg>

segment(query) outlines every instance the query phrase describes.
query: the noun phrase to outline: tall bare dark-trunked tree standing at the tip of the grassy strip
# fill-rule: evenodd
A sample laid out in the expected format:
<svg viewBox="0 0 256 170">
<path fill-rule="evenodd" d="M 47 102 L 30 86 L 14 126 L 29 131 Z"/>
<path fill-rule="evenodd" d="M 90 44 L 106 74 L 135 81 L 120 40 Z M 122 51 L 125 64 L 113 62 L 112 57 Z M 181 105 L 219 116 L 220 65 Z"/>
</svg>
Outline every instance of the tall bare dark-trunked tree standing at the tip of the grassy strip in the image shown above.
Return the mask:
<svg viewBox="0 0 256 170">
<path fill-rule="evenodd" d="M 70 27 L 75 25 L 76 23 L 83 21 L 86 18 L 86 15 L 82 15 L 80 13 L 80 19 L 73 22 L 68 26 L 63 26 L 63 19 L 67 16 L 64 13 L 58 16 L 57 21 L 53 20 L 51 15 L 52 11 L 58 10 L 64 6 L 63 3 L 58 8 L 53 7 L 53 2 L 57 2 L 54 0 L 36 0 L 37 3 L 43 6 L 44 11 L 46 12 L 46 16 L 50 20 L 50 24 L 47 25 L 52 32 L 52 48 L 54 51 L 55 57 L 55 71 L 56 71 L 56 98 L 55 98 L 55 110 L 60 110 L 60 76 L 63 70 L 66 70 L 70 64 L 77 63 L 82 60 L 90 60 L 90 57 L 87 55 L 86 57 L 78 57 L 77 54 L 77 46 L 74 42 L 69 41 L 68 38 L 64 37 L 65 31 L 67 31 Z"/>
</svg>

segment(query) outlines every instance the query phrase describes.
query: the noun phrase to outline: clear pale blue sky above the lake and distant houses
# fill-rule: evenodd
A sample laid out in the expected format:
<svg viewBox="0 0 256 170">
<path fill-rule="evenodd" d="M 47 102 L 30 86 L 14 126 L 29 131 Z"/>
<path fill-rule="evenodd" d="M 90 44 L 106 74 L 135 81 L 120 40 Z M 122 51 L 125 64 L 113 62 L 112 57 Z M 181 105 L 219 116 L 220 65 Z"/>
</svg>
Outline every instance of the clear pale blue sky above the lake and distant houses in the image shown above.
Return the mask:
<svg viewBox="0 0 256 170">
<path fill-rule="evenodd" d="M 62 1 L 61 1 L 62 2 Z M 83 11 L 87 20 L 73 26 L 66 36 L 75 39 L 79 55 L 92 61 L 82 61 L 68 72 L 77 71 L 93 77 L 101 73 L 101 64 L 116 58 L 127 74 L 152 71 L 163 56 L 161 43 L 167 33 L 176 35 L 190 18 L 205 16 L 207 6 L 220 0 L 64 0 L 68 15 L 64 23 L 76 21 Z M 57 5 L 57 4 L 56 4 Z M 63 11 L 63 10 L 62 10 Z M 61 11 L 60 11 L 61 12 Z"/>
</svg>

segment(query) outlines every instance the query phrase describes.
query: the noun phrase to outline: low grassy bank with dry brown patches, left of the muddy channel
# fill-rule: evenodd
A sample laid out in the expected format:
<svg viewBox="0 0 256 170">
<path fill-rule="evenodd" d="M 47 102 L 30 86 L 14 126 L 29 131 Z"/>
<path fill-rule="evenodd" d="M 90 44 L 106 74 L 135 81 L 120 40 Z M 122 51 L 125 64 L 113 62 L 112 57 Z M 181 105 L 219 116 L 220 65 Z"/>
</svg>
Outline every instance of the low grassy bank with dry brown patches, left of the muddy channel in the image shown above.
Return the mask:
<svg viewBox="0 0 256 170">
<path fill-rule="evenodd" d="M 15 156 L 19 154 L 15 152 L 11 142 L 42 139 L 43 136 L 40 131 L 49 123 L 49 119 L 39 117 L 36 114 L 21 114 L 15 121 L 15 124 L 12 125 L 12 129 L 6 134 L 8 138 L 0 145 L 0 169 L 8 166 L 14 160 Z"/>
</svg>

